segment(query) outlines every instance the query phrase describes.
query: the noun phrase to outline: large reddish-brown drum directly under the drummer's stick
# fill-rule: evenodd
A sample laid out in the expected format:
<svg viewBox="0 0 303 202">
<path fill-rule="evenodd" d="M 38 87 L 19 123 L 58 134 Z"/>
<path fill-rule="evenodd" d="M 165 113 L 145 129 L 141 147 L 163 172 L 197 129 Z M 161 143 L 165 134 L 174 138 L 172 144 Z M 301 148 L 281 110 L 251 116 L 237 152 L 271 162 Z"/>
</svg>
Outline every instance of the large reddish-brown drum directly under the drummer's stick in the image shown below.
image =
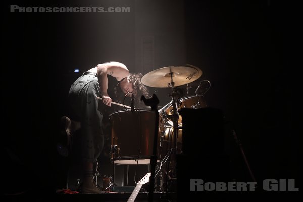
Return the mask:
<svg viewBox="0 0 303 202">
<path fill-rule="evenodd" d="M 122 110 L 110 114 L 111 122 L 111 158 L 114 164 L 144 165 L 150 164 L 153 155 L 156 115 L 154 111 Z M 160 142 L 160 122 L 158 123 L 158 141 Z M 160 143 L 157 144 L 159 149 Z M 159 160 L 158 160 L 159 162 Z"/>
</svg>

